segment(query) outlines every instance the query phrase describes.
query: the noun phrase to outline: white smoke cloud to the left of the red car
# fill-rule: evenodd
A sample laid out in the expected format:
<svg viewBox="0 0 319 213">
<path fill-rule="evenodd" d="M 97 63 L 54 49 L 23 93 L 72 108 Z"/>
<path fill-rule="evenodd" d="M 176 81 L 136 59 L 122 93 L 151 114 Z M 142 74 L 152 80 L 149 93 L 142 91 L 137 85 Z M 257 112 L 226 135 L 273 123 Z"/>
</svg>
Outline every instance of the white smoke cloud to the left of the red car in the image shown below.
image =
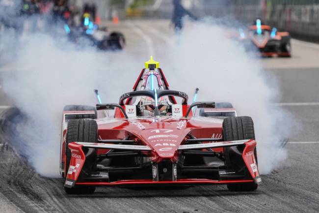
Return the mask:
<svg viewBox="0 0 319 213">
<path fill-rule="evenodd" d="M 90 47 L 79 50 L 59 39 L 61 45 L 42 33 L 27 35 L 25 40 L 14 61 L 14 74 L 3 79 L 3 90 L 29 118 L 19 124 L 23 140 L 14 145 L 38 173 L 54 177 L 59 167 L 63 107 L 94 106 L 96 88 L 106 102 L 117 102 L 124 91 L 132 89 L 137 72 L 128 72 L 129 57 L 126 67 L 109 61 L 125 53 L 114 53 L 112 59 L 110 53 Z"/>
</svg>

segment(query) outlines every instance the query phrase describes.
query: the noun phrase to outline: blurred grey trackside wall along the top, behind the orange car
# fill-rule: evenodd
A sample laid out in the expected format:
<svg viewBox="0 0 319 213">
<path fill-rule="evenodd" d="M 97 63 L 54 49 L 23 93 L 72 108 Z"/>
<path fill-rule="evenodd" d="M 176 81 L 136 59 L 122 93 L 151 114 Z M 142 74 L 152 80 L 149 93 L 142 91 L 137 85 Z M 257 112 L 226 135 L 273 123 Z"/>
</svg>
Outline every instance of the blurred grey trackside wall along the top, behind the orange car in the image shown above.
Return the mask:
<svg viewBox="0 0 319 213">
<path fill-rule="evenodd" d="M 287 30 L 296 38 L 319 42 L 319 0 L 183 0 L 198 17 L 226 17 L 252 24 L 262 18 L 266 24 Z M 172 0 L 162 0 L 157 11 L 145 9 L 143 17 L 171 18 Z M 141 18 L 141 17 L 139 17 Z"/>
</svg>

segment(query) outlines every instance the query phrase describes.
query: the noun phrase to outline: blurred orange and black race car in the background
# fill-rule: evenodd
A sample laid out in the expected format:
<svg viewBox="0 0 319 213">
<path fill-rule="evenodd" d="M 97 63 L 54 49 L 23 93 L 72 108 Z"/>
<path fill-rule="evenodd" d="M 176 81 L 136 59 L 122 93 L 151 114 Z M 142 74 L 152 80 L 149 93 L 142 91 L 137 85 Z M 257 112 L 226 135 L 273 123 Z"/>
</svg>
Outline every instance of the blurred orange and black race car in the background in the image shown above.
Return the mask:
<svg viewBox="0 0 319 213">
<path fill-rule="evenodd" d="M 243 41 L 248 49 L 253 44 L 265 57 L 291 57 L 289 32 L 279 32 L 276 28 L 264 25 L 260 19 L 246 31 L 239 29 L 239 40 Z"/>
</svg>

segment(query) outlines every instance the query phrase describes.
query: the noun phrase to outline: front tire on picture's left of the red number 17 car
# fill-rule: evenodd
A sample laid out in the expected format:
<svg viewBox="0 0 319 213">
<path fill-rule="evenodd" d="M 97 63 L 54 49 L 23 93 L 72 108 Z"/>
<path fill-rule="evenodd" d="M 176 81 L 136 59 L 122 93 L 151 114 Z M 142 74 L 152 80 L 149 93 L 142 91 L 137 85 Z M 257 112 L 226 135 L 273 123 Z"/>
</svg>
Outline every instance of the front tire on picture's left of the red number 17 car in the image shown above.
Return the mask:
<svg viewBox="0 0 319 213">
<path fill-rule="evenodd" d="M 69 170 L 71 151 L 68 144 L 71 142 L 96 143 L 98 141 L 98 124 L 92 119 L 75 119 L 68 122 L 66 133 L 66 166 L 65 171 Z M 67 172 L 65 173 L 67 174 Z M 66 178 L 66 175 L 65 175 Z M 74 188 L 64 187 L 68 194 L 89 194 L 95 190 L 94 186 L 76 186 Z"/>
</svg>

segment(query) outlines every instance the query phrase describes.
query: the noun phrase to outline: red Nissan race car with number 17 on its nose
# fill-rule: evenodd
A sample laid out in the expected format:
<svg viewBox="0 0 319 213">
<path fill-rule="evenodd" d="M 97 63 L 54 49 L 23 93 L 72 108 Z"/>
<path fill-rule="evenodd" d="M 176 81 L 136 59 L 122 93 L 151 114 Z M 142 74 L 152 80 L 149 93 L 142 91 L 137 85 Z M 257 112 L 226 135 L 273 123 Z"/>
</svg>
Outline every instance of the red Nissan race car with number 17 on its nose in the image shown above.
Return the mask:
<svg viewBox="0 0 319 213">
<path fill-rule="evenodd" d="M 196 107 L 205 111 L 197 115 Z M 97 111 L 109 110 L 114 117 L 98 118 Z M 65 106 L 61 136 L 66 193 L 145 184 L 227 184 L 231 191 L 251 191 L 261 183 L 252 119 L 216 109 L 214 102 L 189 105 L 185 92 L 169 89 L 152 59 L 119 103 Z"/>
</svg>

